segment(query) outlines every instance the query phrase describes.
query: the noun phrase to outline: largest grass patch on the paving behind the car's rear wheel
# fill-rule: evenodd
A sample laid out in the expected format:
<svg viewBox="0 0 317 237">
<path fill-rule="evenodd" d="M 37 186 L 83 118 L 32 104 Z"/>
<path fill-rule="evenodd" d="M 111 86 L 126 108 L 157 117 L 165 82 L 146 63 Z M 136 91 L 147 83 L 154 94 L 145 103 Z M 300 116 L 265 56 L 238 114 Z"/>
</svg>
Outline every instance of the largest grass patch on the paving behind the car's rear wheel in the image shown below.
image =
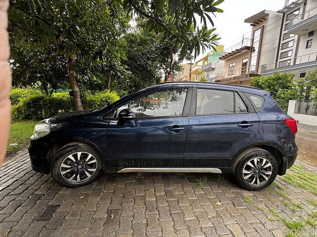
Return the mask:
<svg viewBox="0 0 317 237">
<path fill-rule="evenodd" d="M 287 172 L 281 179 L 290 185 L 295 185 L 317 195 L 317 174 L 305 171 L 305 166 L 294 164 L 291 168 L 294 173 Z"/>
</svg>

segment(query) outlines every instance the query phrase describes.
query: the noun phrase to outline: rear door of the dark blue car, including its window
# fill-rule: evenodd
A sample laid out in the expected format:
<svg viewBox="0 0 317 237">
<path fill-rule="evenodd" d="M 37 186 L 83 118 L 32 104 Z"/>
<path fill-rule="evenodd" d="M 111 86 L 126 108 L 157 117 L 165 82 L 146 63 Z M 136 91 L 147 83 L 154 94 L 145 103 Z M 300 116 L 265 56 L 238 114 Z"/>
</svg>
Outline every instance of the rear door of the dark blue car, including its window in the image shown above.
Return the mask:
<svg viewBox="0 0 317 237">
<path fill-rule="evenodd" d="M 238 90 L 193 89 L 185 166 L 228 167 L 241 148 L 256 142 L 259 118 L 246 100 Z"/>
</svg>

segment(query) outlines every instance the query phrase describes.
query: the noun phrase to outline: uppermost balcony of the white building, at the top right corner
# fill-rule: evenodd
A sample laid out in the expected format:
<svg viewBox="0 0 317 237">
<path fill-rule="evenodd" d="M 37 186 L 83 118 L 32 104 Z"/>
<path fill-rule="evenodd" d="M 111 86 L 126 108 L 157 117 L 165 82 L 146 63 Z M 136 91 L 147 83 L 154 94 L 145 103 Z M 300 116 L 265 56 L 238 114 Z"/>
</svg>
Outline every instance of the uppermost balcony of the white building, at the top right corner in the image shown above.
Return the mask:
<svg viewBox="0 0 317 237">
<path fill-rule="evenodd" d="M 305 35 L 317 29 L 317 7 L 314 7 L 289 20 L 288 33 Z"/>
</svg>

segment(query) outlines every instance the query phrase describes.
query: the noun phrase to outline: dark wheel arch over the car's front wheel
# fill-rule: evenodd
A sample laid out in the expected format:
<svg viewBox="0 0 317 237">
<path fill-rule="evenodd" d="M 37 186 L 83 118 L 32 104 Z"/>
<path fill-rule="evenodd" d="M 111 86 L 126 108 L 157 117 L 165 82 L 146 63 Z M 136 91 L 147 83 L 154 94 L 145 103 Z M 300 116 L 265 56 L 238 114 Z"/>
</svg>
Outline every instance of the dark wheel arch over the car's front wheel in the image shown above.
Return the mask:
<svg viewBox="0 0 317 237">
<path fill-rule="evenodd" d="M 55 142 L 53 142 L 53 144 L 50 146 L 48 153 L 47 153 L 47 167 L 49 167 L 51 169 L 51 165 L 53 163 L 53 160 L 56 156 L 56 154 L 60 151 L 60 149 L 62 149 L 63 147 L 65 147 L 68 144 L 87 144 L 89 146 L 91 146 L 100 156 L 100 158 L 103 161 L 103 164 L 105 163 L 105 155 L 103 154 L 103 152 L 100 150 L 100 148 L 93 143 L 92 141 L 82 138 L 82 137 L 77 137 L 77 136 L 72 136 L 72 137 L 66 137 L 63 139 L 59 139 Z"/>
</svg>

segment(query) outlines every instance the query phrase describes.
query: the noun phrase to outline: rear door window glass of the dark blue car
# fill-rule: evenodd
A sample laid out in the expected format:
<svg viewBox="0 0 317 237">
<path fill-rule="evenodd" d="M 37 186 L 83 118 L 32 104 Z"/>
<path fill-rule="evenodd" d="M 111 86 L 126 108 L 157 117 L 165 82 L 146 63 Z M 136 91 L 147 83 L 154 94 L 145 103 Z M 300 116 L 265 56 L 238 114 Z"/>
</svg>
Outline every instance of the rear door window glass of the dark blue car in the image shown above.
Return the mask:
<svg viewBox="0 0 317 237">
<path fill-rule="evenodd" d="M 226 90 L 197 89 L 196 115 L 248 113 L 238 93 Z"/>
</svg>

